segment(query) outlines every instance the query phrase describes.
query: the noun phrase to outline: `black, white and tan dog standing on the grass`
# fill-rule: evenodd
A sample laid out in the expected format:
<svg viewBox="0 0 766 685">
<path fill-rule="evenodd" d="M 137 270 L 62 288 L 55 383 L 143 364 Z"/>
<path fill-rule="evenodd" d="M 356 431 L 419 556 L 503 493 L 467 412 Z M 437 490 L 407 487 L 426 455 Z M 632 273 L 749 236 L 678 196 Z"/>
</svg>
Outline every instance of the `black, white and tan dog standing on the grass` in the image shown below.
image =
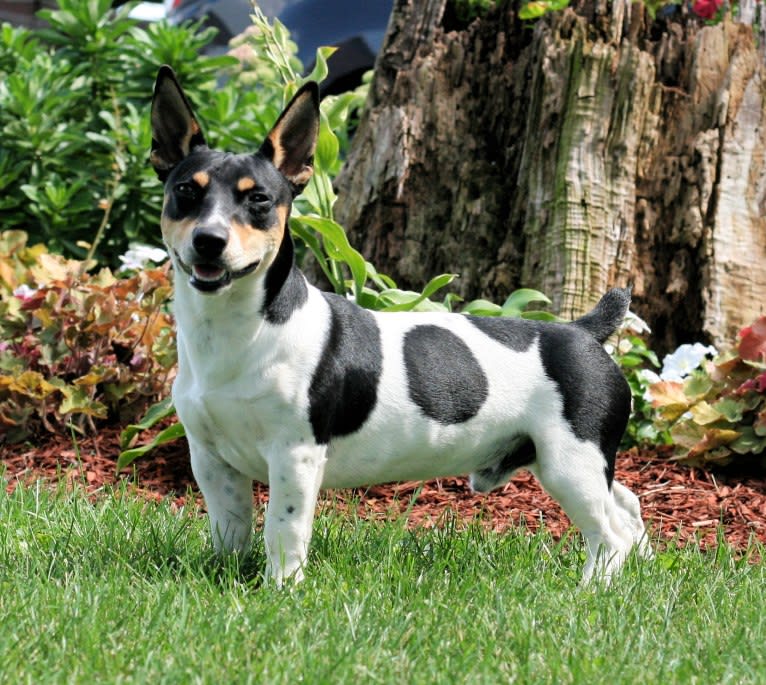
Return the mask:
<svg viewBox="0 0 766 685">
<path fill-rule="evenodd" d="M 172 69 L 157 75 L 151 163 L 164 183 L 178 375 L 214 548 L 249 548 L 269 486 L 266 577 L 304 577 L 320 488 L 470 474 L 488 492 L 526 468 L 582 531 L 583 582 L 647 554 L 614 478 L 631 409 L 603 343 L 630 291 L 576 321 L 381 313 L 309 284 L 291 204 L 313 173 L 319 90 L 300 88 L 254 154 L 212 150 Z"/>
</svg>

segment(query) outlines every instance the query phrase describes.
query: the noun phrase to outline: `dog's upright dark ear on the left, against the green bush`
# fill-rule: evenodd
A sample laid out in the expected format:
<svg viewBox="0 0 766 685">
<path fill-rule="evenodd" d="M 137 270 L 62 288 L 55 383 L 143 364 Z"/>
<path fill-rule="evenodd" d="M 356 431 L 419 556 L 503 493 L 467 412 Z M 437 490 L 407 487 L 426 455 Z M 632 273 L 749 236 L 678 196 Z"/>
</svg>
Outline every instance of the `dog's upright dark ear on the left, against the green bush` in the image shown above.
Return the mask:
<svg viewBox="0 0 766 685">
<path fill-rule="evenodd" d="M 152 98 L 152 152 L 149 157 L 164 181 L 171 169 L 199 146 L 205 137 L 194 118 L 173 70 L 163 65 L 157 73 Z"/>
</svg>

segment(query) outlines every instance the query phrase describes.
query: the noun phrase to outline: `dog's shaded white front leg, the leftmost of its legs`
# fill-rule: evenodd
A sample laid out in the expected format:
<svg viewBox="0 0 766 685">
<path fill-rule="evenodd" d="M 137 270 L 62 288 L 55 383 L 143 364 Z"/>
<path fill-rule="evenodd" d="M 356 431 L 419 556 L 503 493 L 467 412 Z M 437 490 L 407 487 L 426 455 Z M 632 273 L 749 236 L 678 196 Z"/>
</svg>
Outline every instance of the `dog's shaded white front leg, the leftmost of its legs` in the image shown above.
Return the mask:
<svg viewBox="0 0 766 685">
<path fill-rule="evenodd" d="M 245 552 L 253 528 L 253 481 L 189 440 L 192 471 L 205 498 L 216 552 Z"/>
</svg>

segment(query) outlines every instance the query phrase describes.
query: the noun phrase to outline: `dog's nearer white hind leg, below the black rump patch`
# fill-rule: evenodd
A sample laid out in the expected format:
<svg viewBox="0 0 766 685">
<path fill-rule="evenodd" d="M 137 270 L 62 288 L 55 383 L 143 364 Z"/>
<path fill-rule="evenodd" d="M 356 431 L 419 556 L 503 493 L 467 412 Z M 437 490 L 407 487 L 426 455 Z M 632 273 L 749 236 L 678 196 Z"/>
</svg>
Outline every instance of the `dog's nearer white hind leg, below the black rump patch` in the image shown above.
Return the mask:
<svg viewBox="0 0 766 685">
<path fill-rule="evenodd" d="M 606 462 L 596 445 L 567 437 L 539 444 L 537 462 L 529 470 L 564 509 L 585 538 L 587 557 L 582 583 L 609 581 L 628 555 L 633 538 L 622 525 L 605 473 Z"/>
</svg>

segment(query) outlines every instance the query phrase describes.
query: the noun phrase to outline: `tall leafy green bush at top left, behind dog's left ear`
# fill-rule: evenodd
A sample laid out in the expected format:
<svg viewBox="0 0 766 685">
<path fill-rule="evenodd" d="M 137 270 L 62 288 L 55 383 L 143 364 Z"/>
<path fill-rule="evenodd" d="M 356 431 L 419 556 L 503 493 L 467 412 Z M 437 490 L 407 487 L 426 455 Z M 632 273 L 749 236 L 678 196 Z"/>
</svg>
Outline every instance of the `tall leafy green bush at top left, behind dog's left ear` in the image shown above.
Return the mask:
<svg viewBox="0 0 766 685">
<path fill-rule="evenodd" d="M 147 163 L 148 104 L 171 64 L 211 142 L 252 145 L 281 108 L 281 90 L 241 88 L 239 62 L 204 57 L 208 29 L 142 29 L 111 0 L 60 0 L 49 28 L 0 30 L 0 224 L 68 257 L 117 265 L 131 241 L 160 242 L 159 181 Z M 228 84 L 219 88 L 219 81 Z"/>
</svg>

